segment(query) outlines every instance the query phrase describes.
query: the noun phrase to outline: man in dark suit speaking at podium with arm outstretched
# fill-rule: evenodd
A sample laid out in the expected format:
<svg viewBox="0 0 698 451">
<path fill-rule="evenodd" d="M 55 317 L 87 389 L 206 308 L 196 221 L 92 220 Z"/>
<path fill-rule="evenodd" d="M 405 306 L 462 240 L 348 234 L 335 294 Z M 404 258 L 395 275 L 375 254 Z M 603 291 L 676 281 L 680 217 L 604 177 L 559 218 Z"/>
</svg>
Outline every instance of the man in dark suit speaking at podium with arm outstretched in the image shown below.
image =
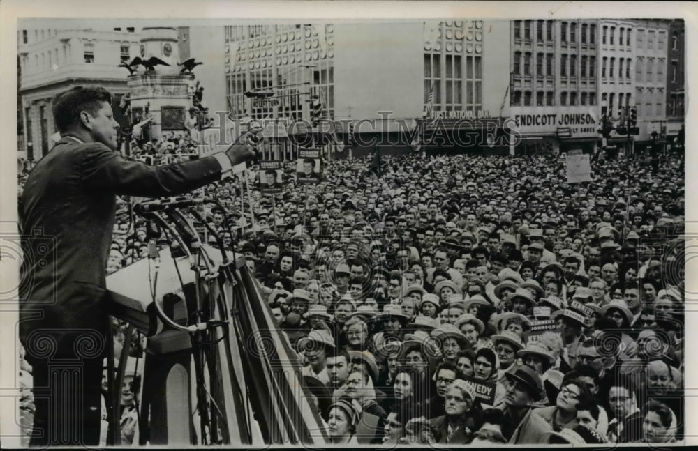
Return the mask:
<svg viewBox="0 0 698 451">
<path fill-rule="evenodd" d="M 121 158 L 105 89 L 54 99 L 61 139 L 29 174 L 20 204 L 20 340 L 33 365 L 31 446 L 98 445 L 107 351 L 105 266 L 117 195 L 174 196 L 221 179 L 250 146 L 176 165 Z"/>
</svg>

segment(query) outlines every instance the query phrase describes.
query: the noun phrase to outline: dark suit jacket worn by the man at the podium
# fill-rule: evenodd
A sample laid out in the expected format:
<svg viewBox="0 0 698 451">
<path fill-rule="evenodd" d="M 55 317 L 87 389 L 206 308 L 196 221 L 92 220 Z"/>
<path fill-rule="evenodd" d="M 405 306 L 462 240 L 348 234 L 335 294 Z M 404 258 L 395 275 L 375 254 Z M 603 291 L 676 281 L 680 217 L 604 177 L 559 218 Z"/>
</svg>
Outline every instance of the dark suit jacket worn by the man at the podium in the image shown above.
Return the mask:
<svg viewBox="0 0 698 451">
<path fill-rule="evenodd" d="M 214 157 L 152 167 L 101 143 L 61 139 L 31 171 L 21 199 L 20 339 L 27 360 L 103 355 L 105 266 L 118 194 L 172 196 L 220 178 Z"/>
</svg>

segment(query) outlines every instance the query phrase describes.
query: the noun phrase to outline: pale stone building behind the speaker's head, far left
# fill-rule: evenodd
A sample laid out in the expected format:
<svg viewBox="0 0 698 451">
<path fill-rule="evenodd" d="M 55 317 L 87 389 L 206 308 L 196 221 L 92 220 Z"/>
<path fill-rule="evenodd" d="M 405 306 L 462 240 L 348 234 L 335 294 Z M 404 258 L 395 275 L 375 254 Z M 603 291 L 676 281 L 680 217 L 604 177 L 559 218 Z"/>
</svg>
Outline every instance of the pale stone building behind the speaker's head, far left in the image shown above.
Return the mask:
<svg viewBox="0 0 698 451">
<path fill-rule="evenodd" d="M 118 105 L 119 97 L 128 92 L 128 71 L 118 65 L 131 61 L 140 45 L 140 31 L 135 27 L 50 26 L 45 21 L 20 23 L 18 30 L 18 108 L 24 123 L 25 146 L 18 150 L 30 162 L 42 158 L 52 147 L 51 136 L 57 131 L 51 110 L 55 95 L 74 86 L 98 84 L 114 94 L 114 103 Z"/>
</svg>

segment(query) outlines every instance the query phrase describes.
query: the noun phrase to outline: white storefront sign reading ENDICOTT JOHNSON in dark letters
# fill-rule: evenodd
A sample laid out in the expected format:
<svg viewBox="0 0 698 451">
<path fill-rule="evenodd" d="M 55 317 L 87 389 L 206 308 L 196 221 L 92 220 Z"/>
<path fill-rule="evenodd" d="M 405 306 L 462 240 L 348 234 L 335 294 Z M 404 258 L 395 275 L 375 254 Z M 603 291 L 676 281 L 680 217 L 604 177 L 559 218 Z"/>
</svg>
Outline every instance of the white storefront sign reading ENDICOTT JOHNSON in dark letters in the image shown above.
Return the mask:
<svg viewBox="0 0 698 451">
<path fill-rule="evenodd" d="M 597 107 L 511 107 L 509 117 L 521 135 L 560 135 L 565 137 L 596 137 Z"/>
</svg>

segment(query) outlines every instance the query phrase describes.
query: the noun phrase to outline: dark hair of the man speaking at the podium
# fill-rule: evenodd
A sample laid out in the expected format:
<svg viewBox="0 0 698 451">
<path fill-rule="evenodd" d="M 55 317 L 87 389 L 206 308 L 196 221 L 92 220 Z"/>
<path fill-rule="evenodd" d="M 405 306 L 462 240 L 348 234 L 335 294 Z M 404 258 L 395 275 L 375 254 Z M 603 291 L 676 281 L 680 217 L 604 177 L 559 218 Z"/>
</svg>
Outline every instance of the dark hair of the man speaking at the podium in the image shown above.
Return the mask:
<svg viewBox="0 0 698 451">
<path fill-rule="evenodd" d="M 95 116 L 102 102 L 111 105 L 112 95 L 101 86 L 76 86 L 70 91 L 57 95 L 53 100 L 52 111 L 58 131 L 63 133 L 80 123 L 80 112 Z"/>
</svg>

